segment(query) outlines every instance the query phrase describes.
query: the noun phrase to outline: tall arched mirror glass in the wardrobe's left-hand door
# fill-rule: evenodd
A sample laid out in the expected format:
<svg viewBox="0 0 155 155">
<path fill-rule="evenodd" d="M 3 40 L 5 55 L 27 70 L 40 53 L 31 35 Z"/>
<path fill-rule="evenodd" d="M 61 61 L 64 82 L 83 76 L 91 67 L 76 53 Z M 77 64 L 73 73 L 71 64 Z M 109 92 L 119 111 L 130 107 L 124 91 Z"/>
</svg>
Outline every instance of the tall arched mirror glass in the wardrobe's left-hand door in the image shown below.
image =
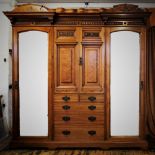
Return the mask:
<svg viewBox="0 0 155 155">
<path fill-rule="evenodd" d="M 19 34 L 20 136 L 48 135 L 48 34 Z"/>
</svg>

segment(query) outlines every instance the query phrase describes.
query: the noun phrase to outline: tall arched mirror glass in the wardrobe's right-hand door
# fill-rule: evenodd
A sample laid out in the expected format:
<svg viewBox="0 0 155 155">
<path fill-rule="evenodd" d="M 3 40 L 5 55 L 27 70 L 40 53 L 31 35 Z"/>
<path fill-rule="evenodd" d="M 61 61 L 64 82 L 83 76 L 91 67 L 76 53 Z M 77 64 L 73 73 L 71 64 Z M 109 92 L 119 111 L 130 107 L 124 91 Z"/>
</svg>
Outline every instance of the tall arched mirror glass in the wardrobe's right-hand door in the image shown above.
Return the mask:
<svg viewBox="0 0 155 155">
<path fill-rule="evenodd" d="M 139 135 L 139 33 L 111 33 L 111 136 Z"/>
</svg>

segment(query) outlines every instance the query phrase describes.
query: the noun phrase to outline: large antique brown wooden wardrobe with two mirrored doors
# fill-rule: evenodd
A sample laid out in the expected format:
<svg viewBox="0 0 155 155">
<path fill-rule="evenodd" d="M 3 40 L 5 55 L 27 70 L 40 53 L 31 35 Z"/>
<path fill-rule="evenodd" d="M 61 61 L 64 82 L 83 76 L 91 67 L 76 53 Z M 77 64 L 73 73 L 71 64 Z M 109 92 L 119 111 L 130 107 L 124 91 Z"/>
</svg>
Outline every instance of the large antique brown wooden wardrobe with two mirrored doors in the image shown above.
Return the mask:
<svg viewBox="0 0 155 155">
<path fill-rule="evenodd" d="M 12 147 L 148 147 L 146 9 L 24 4 L 4 14 L 13 32 Z"/>
</svg>

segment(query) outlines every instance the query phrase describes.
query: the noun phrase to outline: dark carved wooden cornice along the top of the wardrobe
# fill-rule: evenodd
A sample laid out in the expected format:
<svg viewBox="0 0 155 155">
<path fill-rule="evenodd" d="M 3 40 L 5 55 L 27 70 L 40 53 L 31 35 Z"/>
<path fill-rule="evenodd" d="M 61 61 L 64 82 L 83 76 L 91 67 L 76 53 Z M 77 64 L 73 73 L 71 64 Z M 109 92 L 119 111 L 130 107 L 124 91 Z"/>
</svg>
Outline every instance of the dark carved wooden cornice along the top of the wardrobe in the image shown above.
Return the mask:
<svg viewBox="0 0 155 155">
<path fill-rule="evenodd" d="M 13 11 L 4 12 L 12 25 L 146 25 L 150 13 L 137 5 L 119 4 L 113 8 L 50 9 L 37 4 L 17 5 Z"/>
</svg>

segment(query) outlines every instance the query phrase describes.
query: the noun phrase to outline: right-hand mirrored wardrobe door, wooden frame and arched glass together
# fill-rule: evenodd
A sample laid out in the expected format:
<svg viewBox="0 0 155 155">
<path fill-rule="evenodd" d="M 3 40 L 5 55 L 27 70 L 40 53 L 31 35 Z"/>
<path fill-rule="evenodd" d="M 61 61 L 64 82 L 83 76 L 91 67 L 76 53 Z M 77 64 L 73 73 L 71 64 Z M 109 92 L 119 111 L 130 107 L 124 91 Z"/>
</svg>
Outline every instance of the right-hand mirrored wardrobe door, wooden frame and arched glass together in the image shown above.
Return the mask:
<svg viewBox="0 0 155 155">
<path fill-rule="evenodd" d="M 107 136 L 144 137 L 145 31 L 109 28 L 106 36 Z"/>
</svg>

